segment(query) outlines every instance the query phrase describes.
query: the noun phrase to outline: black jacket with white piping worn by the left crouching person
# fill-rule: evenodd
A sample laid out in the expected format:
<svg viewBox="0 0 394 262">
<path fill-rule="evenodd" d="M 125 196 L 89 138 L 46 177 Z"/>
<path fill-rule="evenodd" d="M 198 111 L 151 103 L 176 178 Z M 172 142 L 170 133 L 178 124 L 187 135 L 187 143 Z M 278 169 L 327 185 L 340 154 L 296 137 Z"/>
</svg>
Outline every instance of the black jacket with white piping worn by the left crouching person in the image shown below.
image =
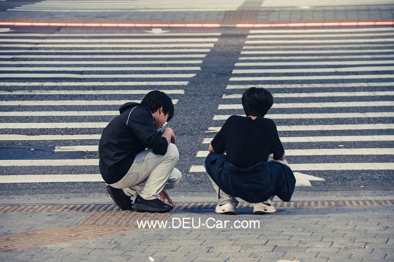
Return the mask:
<svg viewBox="0 0 394 262">
<path fill-rule="evenodd" d="M 153 153 L 164 155 L 167 140 L 155 128 L 151 112 L 138 103 L 126 103 L 103 129 L 99 142 L 99 169 L 108 184 L 122 179 L 131 168 L 135 156 L 152 148 Z"/>
</svg>

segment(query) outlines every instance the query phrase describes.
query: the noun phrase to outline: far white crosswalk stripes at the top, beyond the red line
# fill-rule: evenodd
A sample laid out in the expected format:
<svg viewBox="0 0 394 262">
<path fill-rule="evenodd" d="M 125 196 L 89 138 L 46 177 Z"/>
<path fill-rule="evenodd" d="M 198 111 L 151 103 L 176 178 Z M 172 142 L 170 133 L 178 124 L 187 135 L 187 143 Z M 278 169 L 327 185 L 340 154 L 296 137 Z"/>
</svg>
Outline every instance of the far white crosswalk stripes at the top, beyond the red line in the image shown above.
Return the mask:
<svg viewBox="0 0 394 262">
<path fill-rule="evenodd" d="M 142 11 L 229 11 L 237 10 L 245 0 L 43 0 L 22 4 L 7 11 L 40 12 L 124 12 Z M 393 4 L 393 0 L 262 0 L 261 7 L 358 6 L 368 4 Z"/>
</svg>

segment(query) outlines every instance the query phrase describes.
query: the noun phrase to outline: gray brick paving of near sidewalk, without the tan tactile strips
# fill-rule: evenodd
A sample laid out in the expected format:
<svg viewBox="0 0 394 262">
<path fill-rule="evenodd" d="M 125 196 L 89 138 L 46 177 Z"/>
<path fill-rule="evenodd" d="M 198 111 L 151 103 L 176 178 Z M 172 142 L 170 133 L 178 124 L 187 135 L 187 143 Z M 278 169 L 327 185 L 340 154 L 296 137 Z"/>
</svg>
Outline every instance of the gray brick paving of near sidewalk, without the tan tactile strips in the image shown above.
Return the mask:
<svg viewBox="0 0 394 262">
<path fill-rule="evenodd" d="M 215 214 L 213 208 L 192 207 L 176 209 L 166 220 L 170 229 L 144 229 L 29 249 L 21 247 L 23 250 L 0 253 L 0 260 L 394 261 L 393 211 L 392 204 L 356 204 L 278 207 L 275 214 L 253 215 L 252 208 L 238 207 L 237 214 L 231 216 Z M 70 227 L 87 215 L 88 212 L 62 211 L 4 213 L 0 243 L 4 244 L 7 234 L 18 233 L 36 241 L 29 232 Z M 78 233 L 81 232 L 75 231 L 74 235 Z"/>
</svg>

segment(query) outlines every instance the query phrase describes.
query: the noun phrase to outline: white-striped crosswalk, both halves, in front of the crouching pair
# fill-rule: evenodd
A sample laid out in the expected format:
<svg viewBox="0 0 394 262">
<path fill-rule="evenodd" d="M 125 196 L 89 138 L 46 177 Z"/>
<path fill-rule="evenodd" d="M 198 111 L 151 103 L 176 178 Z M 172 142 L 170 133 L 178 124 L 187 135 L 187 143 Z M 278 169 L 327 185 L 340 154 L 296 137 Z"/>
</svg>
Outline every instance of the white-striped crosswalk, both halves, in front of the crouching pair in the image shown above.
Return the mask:
<svg viewBox="0 0 394 262">
<path fill-rule="evenodd" d="M 50 146 L 52 155 L 1 159 L 0 182 L 102 181 L 98 141 L 119 106 L 153 89 L 181 103 L 220 37 L 1 33 L 0 150 Z M 207 119 L 215 124 L 206 127 L 196 154 L 185 156 L 192 159 L 189 173 L 205 172 L 210 141 L 229 116 L 243 115 L 241 95 L 255 86 L 274 95 L 267 117 L 275 120 L 296 174 L 393 174 L 393 47 L 390 27 L 250 30 Z"/>
</svg>

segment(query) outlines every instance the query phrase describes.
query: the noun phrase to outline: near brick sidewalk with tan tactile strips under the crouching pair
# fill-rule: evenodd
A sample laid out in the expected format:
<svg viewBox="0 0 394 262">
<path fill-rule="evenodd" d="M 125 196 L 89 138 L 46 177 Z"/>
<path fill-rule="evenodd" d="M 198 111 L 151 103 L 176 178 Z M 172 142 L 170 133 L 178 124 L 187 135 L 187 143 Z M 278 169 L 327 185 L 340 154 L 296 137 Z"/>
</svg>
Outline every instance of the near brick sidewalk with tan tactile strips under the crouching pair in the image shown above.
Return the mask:
<svg viewBox="0 0 394 262">
<path fill-rule="evenodd" d="M 215 203 L 178 204 L 171 213 L 114 204 L 0 206 L 0 260 L 394 261 L 393 200 L 275 205 L 277 213 L 263 216 L 247 203 L 235 216 L 215 214 Z M 140 229 L 137 220 L 175 228 Z"/>
</svg>

